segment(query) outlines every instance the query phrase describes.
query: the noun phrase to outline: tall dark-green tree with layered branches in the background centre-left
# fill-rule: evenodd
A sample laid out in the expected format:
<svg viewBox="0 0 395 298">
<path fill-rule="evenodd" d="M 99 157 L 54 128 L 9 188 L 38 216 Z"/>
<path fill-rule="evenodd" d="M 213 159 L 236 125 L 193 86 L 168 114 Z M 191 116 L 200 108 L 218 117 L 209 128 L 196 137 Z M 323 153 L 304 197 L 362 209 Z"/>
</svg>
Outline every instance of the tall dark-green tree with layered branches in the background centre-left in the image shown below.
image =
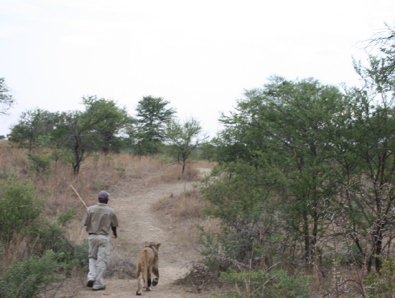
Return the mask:
<svg viewBox="0 0 395 298">
<path fill-rule="evenodd" d="M 145 96 L 136 107 L 137 127 L 129 130 L 132 139 L 139 141 L 142 152 L 154 154 L 164 139 L 166 122 L 176 113 L 173 108 L 166 108 L 170 102 L 160 97 Z"/>
</svg>

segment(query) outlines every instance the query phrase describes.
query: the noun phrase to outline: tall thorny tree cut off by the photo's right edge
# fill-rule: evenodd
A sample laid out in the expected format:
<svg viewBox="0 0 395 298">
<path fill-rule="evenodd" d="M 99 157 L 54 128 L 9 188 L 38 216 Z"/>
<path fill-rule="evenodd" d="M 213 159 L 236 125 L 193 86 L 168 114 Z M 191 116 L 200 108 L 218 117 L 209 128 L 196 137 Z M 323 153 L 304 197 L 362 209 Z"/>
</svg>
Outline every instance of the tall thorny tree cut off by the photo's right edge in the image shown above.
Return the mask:
<svg viewBox="0 0 395 298">
<path fill-rule="evenodd" d="M 345 173 L 337 224 L 351 235 L 367 271 L 379 271 L 384 248 L 392 249 L 395 228 L 395 35 L 375 36 L 380 55 L 369 55 L 367 66 L 355 62 L 363 79 L 350 88 L 349 106 L 340 119 L 338 162 Z M 347 124 L 347 126 L 344 125 Z M 347 131 L 346 131 L 347 130 Z M 344 220 L 346 219 L 346 221 Z M 345 225 L 345 223 L 350 223 Z M 366 243 L 366 245 L 363 245 Z"/>
</svg>

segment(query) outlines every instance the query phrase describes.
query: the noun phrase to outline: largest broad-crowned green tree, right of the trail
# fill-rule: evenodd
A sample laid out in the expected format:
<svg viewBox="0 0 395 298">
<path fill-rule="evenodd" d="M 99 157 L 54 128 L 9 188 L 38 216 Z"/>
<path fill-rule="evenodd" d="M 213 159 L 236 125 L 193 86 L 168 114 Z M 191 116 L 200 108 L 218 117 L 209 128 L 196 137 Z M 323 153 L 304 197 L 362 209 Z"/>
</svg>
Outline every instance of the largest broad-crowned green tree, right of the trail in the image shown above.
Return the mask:
<svg viewBox="0 0 395 298">
<path fill-rule="evenodd" d="M 264 88 L 246 91 L 236 111 L 220 119 L 226 129 L 218 140 L 225 136 L 223 146 L 237 149 L 235 160 L 266 168 L 273 177 L 268 181 L 276 181 L 268 187 L 282 203 L 283 228 L 303 243 L 308 267 L 316 261 L 323 230 L 322 198 L 336 192 L 331 118 L 343 109 L 342 98 L 337 88 L 312 78 L 275 76 Z"/>
</svg>

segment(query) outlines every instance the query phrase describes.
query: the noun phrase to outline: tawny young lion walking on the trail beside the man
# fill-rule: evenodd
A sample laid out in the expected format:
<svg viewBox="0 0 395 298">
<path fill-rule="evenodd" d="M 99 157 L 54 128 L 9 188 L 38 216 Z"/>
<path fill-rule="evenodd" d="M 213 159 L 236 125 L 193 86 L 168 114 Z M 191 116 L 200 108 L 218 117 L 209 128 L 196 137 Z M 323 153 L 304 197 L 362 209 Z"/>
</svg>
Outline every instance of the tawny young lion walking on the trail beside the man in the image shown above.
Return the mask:
<svg viewBox="0 0 395 298">
<path fill-rule="evenodd" d="M 136 295 L 141 295 L 141 275 L 143 275 L 143 282 L 146 291 L 151 291 L 151 284 L 156 286 L 159 280 L 158 270 L 158 251 L 160 243 L 145 242 L 144 249 L 140 252 L 137 258 L 137 291 Z M 151 274 L 155 277 L 151 283 Z"/>
</svg>

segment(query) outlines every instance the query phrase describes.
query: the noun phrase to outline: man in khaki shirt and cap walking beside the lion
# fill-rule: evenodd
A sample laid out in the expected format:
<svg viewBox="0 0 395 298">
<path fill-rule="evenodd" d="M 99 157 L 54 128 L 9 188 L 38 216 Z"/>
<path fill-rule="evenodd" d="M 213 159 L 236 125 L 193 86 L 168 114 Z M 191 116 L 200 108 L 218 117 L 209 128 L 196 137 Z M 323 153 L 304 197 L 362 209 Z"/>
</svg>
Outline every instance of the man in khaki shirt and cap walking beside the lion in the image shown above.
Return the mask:
<svg viewBox="0 0 395 298">
<path fill-rule="evenodd" d="M 83 224 L 88 232 L 89 273 L 87 287 L 93 291 L 105 290 L 104 275 L 110 259 L 110 232 L 117 238 L 118 219 L 113 208 L 107 205 L 110 194 L 101 191 L 99 203 L 86 209 Z"/>
</svg>

